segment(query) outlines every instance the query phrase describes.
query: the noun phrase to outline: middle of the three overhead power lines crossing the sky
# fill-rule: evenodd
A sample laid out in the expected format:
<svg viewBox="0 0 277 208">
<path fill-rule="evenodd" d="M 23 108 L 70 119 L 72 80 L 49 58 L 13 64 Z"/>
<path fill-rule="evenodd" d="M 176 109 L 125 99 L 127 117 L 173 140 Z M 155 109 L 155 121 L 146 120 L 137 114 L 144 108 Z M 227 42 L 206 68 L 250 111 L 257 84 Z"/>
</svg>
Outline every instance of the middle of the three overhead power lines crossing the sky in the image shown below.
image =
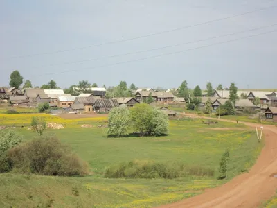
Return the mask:
<svg viewBox="0 0 277 208">
<path fill-rule="evenodd" d="M 215 37 L 208 37 L 202 40 L 195 40 L 195 41 L 191 41 L 191 42 L 183 42 L 180 44 L 174 44 L 174 45 L 170 45 L 170 46 L 163 46 L 163 47 L 159 47 L 159 48 L 154 48 L 154 49 L 147 49 L 147 50 L 142 50 L 142 51 L 134 51 L 134 52 L 129 52 L 129 53 L 122 53 L 122 54 L 117 54 L 117 55 L 109 55 L 109 56 L 104 56 L 104 57 L 100 57 L 100 58 L 91 58 L 91 59 L 86 59 L 86 60 L 77 60 L 77 61 L 72 61 L 72 62 L 63 62 L 63 63 L 57 63 L 57 64 L 46 64 L 46 65 L 42 65 L 40 67 L 33 67 L 35 69 L 39 69 L 41 67 L 53 67 L 53 66 L 59 66 L 62 64 L 76 64 L 76 63 L 81 63 L 81 62 L 90 62 L 90 61 L 95 61 L 95 60 L 102 60 L 102 59 L 107 59 L 107 58 L 116 58 L 116 57 L 120 57 L 120 56 L 125 56 L 125 55 L 133 55 L 133 54 L 137 54 L 137 53 L 144 53 L 144 52 L 150 52 L 150 51 L 157 51 L 157 50 L 161 50 L 161 49 L 168 49 L 168 48 L 172 48 L 175 46 L 182 46 L 182 45 L 186 45 L 186 44 L 193 44 L 193 43 L 197 43 L 197 42 L 203 42 L 206 40 L 213 40 L 213 39 L 217 39 L 220 37 L 227 37 L 230 35 L 238 35 L 241 33 L 246 33 L 246 32 L 250 32 L 250 31 L 256 31 L 256 30 L 260 30 L 260 29 L 264 29 L 264 28 L 269 28 L 272 26 L 276 26 L 277 24 L 271 24 L 268 26 L 262 26 L 262 27 L 258 27 L 258 28 L 252 28 L 249 30 L 245 30 L 245 31 L 240 31 L 240 32 L 236 32 L 236 33 L 228 33 L 225 35 L 217 35 Z"/>
</svg>

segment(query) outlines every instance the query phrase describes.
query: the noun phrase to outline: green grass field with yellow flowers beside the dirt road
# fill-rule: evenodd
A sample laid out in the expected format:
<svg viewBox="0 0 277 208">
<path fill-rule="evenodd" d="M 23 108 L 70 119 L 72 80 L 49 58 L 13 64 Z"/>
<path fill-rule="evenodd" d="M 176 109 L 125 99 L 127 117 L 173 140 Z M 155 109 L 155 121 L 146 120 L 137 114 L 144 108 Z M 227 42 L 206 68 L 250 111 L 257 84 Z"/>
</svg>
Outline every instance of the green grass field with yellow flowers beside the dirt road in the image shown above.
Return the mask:
<svg viewBox="0 0 277 208">
<path fill-rule="evenodd" d="M 201 120 L 170 121 L 169 134 L 164 137 L 108 138 L 107 128 L 98 123 L 107 118 L 61 119 L 48 114 L 48 122 L 66 123 L 64 129 L 48 130 L 69 144 L 89 163 L 87 177 L 46 177 L 37 175 L 0 175 L 0 207 L 152 207 L 195 196 L 235 175 L 247 171 L 255 162 L 263 144 L 255 132 L 242 124 L 220 122 L 204 125 Z M 29 114 L 0 115 L 1 125 L 30 123 Z M 81 128 L 80 123 L 96 127 Z M 3 122 L 3 123 L 2 123 Z M 35 137 L 27 128 L 15 128 L 26 139 Z M 229 148 L 231 161 L 226 180 L 217 180 L 222 153 Z M 165 179 L 107 179 L 105 167 L 120 162 L 184 162 L 188 165 L 215 169 L 214 177 L 182 177 Z M 76 191 L 79 194 L 76 196 Z"/>
</svg>

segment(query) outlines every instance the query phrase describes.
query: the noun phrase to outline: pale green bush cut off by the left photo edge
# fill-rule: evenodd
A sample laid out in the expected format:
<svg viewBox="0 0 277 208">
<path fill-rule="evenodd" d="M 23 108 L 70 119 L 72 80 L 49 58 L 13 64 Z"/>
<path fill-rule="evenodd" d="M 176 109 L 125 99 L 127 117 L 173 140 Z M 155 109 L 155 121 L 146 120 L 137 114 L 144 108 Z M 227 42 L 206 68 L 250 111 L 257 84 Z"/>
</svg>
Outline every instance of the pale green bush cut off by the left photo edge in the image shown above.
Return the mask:
<svg viewBox="0 0 277 208">
<path fill-rule="evenodd" d="M 8 149 L 17 146 L 23 138 L 12 130 L 0 132 L 0 173 L 10 171 L 7 157 Z"/>
</svg>

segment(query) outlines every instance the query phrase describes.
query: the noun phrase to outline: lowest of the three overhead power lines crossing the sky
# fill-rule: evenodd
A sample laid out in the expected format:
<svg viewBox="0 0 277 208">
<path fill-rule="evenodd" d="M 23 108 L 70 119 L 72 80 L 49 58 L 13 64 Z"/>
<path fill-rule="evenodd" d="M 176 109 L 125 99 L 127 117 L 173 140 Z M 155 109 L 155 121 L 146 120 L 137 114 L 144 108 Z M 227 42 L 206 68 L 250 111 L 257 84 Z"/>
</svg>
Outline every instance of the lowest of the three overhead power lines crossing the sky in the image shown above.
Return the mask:
<svg viewBox="0 0 277 208">
<path fill-rule="evenodd" d="M 235 42 L 237 40 L 243 40 L 243 39 L 247 39 L 247 38 L 250 38 L 250 37 L 256 37 L 256 36 L 266 35 L 266 34 L 275 33 L 275 32 L 277 32 L 277 30 L 269 31 L 269 32 L 265 32 L 265 33 L 259 33 L 259 34 L 256 34 L 256 35 L 249 35 L 249 36 L 245 36 L 245 37 L 239 37 L 239 38 L 236 38 L 236 39 L 233 39 L 233 40 L 227 40 L 227 41 L 224 41 L 224 42 L 217 42 L 215 44 L 208 44 L 206 46 L 199 46 L 199 47 L 196 47 L 196 48 L 193 48 L 193 49 L 186 49 L 186 50 L 181 50 L 181 51 L 175 51 L 175 52 L 172 52 L 172 53 L 163 53 L 161 55 L 153 55 L 153 56 L 149 56 L 149 57 L 146 57 L 146 58 L 139 58 L 139 59 L 136 59 L 136 60 L 128 60 L 128 61 L 124 61 L 124 62 L 116 62 L 116 63 L 113 63 L 113 64 L 103 64 L 103 65 L 100 65 L 100 66 L 97 66 L 97 67 L 88 67 L 88 68 L 83 68 L 83 69 L 67 70 L 67 71 L 60 71 L 60 72 L 54 72 L 54 73 L 44 73 L 44 74 L 40 74 L 40 75 L 53 75 L 53 74 L 57 74 L 57 73 L 68 73 L 68 72 L 73 72 L 73 71 L 82 71 L 82 70 L 97 69 L 97 68 L 102 68 L 102 67 L 111 67 L 111 66 L 118 65 L 118 64 L 126 64 L 126 63 L 129 63 L 129 62 L 138 62 L 138 61 L 141 61 L 141 60 L 148 60 L 148 59 L 152 59 L 152 58 L 159 58 L 159 57 L 166 56 L 166 55 L 172 55 L 172 54 L 177 54 L 177 53 L 184 53 L 186 51 L 194 51 L 194 50 L 197 50 L 197 49 L 204 49 L 204 48 L 211 47 L 211 46 L 217 46 L 217 45 L 220 45 L 220 44 L 225 44 L 225 43 L 229 43 L 229 42 Z"/>
</svg>

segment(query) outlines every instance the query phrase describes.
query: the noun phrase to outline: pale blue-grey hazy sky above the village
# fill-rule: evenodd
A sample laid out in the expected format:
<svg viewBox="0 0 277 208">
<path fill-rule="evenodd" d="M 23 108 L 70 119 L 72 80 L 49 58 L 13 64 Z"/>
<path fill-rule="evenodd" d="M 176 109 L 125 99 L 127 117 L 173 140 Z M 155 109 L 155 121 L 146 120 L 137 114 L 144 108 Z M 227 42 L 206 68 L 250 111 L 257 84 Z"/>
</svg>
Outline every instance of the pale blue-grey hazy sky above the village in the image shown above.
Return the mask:
<svg viewBox="0 0 277 208">
<path fill-rule="evenodd" d="M 36 86 L 268 89 L 276 57 L 276 0 L 0 1 L 0 86 L 18 70 Z"/>
</svg>

